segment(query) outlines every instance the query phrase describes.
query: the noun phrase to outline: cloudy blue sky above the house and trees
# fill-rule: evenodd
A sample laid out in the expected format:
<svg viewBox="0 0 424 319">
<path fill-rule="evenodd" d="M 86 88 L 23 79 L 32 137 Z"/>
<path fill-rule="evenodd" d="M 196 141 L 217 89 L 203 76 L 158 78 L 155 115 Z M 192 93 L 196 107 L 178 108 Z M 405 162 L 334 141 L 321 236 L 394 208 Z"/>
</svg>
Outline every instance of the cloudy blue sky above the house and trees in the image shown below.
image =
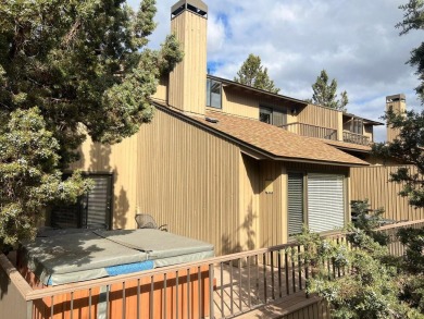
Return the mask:
<svg viewBox="0 0 424 319">
<path fill-rule="evenodd" d="M 137 8 L 138 0 L 128 1 Z M 158 28 L 150 46 L 170 33 L 171 7 L 158 1 Z M 249 53 L 261 57 L 280 94 L 311 98 L 321 70 L 347 90 L 348 111 L 378 120 L 385 97 L 403 93 L 409 109 L 420 110 L 415 70 L 406 64 L 422 41 L 420 32 L 399 37 L 398 9 L 407 0 L 204 0 L 209 5 L 208 65 L 233 79 Z M 376 132 L 385 138 L 385 127 Z"/>
</svg>

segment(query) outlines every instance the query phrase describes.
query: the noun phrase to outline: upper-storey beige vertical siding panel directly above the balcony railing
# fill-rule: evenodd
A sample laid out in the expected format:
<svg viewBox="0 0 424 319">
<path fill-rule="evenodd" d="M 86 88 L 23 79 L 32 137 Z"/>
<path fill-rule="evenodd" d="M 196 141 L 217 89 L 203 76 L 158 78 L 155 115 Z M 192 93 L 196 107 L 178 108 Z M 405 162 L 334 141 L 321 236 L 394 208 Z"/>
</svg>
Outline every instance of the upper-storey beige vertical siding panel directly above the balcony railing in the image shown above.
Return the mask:
<svg viewBox="0 0 424 319">
<path fill-rule="evenodd" d="M 298 122 L 333 130 L 340 127 L 340 111 L 309 105 L 298 115 Z"/>
</svg>

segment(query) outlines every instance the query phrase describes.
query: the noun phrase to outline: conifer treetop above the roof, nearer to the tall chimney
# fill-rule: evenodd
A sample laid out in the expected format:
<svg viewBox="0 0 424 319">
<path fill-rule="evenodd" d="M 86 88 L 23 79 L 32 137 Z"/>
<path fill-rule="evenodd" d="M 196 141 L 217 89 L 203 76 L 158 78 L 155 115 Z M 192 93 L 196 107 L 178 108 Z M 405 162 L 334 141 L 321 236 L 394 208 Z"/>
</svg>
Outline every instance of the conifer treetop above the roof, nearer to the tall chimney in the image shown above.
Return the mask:
<svg viewBox="0 0 424 319">
<path fill-rule="evenodd" d="M 262 66 L 259 56 L 249 54 L 234 81 L 271 93 L 279 93 L 279 88 L 275 87 L 274 81 L 270 78 L 267 69 Z"/>
</svg>

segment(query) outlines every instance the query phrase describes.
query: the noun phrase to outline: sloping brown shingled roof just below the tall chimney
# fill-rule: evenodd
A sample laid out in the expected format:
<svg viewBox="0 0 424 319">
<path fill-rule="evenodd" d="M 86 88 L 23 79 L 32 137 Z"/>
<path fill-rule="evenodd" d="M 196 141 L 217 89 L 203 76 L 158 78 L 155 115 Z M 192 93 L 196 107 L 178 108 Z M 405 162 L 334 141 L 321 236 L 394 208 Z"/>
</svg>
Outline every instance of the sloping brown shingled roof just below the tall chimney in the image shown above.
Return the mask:
<svg viewBox="0 0 424 319">
<path fill-rule="evenodd" d="M 158 105 L 158 102 L 155 105 L 160 109 L 165 107 L 173 114 L 186 120 L 189 119 L 191 122 L 212 130 L 216 134 L 224 135 L 240 146 L 247 147 L 270 159 L 331 163 L 347 167 L 369 165 L 367 162 L 329 146 L 321 139 L 300 136 L 258 120 L 213 111 L 208 111 L 204 118 L 191 116 L 170 109 L 164 105 Z M 212 123 L 207 121 L 207 119 L 214 119 L 217 122 Z"/>
</svg>

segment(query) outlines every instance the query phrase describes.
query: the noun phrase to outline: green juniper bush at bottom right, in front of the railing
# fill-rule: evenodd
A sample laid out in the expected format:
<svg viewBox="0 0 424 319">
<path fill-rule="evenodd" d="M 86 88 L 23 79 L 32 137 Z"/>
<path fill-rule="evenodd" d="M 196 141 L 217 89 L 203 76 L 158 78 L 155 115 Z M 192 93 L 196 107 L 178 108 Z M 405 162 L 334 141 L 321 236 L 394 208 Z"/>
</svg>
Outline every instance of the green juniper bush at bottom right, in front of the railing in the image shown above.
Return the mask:
<svg viewBox="0 0 424 319">
<path fill-rule="evenodd" d="M 369 206 L 367 200 L 352 205 L 358 222 L 346 230 L 350 246 L 307 228 L 297 236 L 304 247 L 299 257 L 312 269 L 307 290 L 331 304 L 332 318 L 424 318 L 424 230 L 400 231 L 407 255 L 389 256 L 377 242 L 387 243 L 376 230 L 383 210 L 371 216 Z M 346 275 L 335 279 L 333 265 Z"/>
</svg>

